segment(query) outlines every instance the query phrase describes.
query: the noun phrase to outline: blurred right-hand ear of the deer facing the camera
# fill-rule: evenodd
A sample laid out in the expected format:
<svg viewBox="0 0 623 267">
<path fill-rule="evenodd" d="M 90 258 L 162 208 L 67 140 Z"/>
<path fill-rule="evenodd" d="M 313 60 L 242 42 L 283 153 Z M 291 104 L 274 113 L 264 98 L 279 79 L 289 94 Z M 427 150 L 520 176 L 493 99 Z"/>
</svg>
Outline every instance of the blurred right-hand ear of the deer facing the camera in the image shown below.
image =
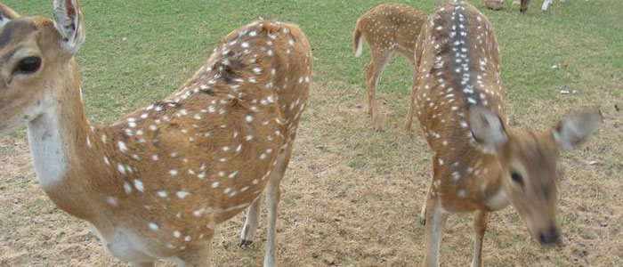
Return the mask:
<svg viewBox="0 0 623 267">
<path fill-rule="evenodd" d="M 571 150 L 579 143 L 587 140 L 602 123 L 599 110 L 583 111 L 564 117 L 554 127 L 552 135 L 561 150 Z"/>
</svg>

